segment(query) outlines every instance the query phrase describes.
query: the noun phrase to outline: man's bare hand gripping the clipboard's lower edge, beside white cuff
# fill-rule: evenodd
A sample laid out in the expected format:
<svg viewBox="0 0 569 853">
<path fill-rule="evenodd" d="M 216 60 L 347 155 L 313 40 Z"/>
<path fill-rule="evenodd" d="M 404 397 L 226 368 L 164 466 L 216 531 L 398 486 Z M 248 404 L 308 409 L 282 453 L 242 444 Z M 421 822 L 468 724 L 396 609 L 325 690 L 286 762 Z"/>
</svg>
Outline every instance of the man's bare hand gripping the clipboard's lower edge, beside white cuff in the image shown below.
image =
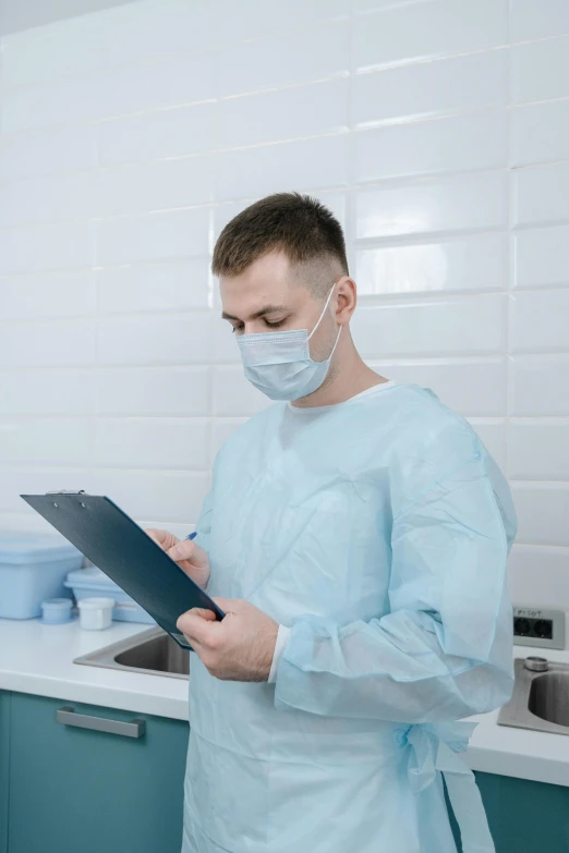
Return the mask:
<svg viewBox="0 0 569 853">
<path fill-rule="evenodd" d="M 223 681 L 267 681 L 279 631 L 278 622 L 241 599 L 215 598 L 226 612 L 217 622 L 211 610 L 194 607 L 177 625 L 211 675 Z"/>
</svg>

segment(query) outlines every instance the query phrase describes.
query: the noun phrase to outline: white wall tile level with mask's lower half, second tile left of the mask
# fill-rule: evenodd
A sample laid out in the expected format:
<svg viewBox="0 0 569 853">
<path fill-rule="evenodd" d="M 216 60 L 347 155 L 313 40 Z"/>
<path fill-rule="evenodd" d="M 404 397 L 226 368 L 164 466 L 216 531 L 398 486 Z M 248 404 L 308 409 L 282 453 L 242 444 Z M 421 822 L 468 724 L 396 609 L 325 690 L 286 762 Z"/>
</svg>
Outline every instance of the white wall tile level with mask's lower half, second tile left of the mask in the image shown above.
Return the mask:
<svg viewBox="0 0 569 853">
<path fill-rule="evenodd" d="M 209 414 L 209 369 L 112 367 L 98 370 L 101 415 L 201 417 Z"/>
</svg>

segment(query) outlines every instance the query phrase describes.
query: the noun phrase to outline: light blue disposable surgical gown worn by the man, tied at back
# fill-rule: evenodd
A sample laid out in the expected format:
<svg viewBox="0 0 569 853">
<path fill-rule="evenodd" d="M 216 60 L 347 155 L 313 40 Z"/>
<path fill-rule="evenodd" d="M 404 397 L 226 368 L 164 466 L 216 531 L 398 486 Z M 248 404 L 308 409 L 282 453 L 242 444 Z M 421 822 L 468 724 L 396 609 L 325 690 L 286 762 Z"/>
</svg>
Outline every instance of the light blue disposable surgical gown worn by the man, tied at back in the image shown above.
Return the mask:
<svg viewBox="0 0 569 853">
<path fill-rule="evenodd" d="M 516 515 L 429 390 L 269 406 L 222 447 L 198 523 L 210 595 L 291 626 L 275 684 L 191 655 L 183 853 L 493 849 L 458 753 L 512 687 Z"/>
</svg>

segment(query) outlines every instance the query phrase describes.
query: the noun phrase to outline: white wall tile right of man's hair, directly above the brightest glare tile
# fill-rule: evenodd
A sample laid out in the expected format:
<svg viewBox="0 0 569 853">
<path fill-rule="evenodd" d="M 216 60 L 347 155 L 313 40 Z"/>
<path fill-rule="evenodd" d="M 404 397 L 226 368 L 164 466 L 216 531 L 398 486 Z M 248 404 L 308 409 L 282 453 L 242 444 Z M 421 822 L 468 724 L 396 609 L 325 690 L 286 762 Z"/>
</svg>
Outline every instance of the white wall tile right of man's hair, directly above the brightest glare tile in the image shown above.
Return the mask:
<svg viewBox="0 0 569 853">
<path fill-rule="evenodd" d="M 358 237 L 499 228 L 507 224 L 507 184 L 500 172 L 453 175 L 360 192 Z"/>
</svg>

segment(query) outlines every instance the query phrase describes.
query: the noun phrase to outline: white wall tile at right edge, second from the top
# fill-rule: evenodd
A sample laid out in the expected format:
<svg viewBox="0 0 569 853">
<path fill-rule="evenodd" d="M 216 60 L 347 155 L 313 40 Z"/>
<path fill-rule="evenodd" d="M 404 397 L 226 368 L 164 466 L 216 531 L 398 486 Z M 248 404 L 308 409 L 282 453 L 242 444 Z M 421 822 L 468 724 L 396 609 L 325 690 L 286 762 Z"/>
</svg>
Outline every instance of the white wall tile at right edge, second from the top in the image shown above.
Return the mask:
<svg viewBox="0 0 569 853">
<path fill-rule="evenodd" d="M 511 48 L 513 103 L 569 95 L 569 36 Z"/>
</svg>

